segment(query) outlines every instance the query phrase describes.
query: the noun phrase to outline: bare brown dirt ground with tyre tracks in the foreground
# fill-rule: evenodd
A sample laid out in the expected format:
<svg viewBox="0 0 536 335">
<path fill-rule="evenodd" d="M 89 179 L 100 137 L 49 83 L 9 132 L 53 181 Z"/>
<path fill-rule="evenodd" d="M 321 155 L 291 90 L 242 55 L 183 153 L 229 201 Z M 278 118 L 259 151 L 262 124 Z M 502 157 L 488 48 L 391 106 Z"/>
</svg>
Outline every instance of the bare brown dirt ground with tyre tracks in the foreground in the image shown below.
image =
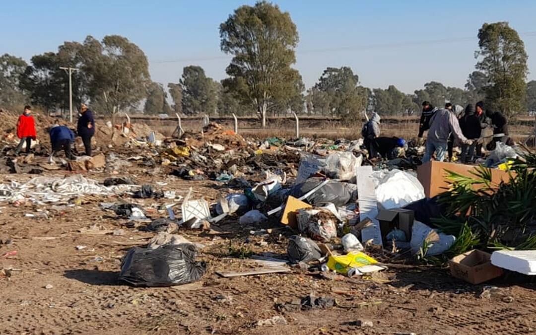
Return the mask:
<svg viewBox="0 0 536 335">
<path fill-rule="evenodd" d="M 87 174 L 99 181 L 107 176 Z M 182 196 L 193 187 L 195 197 L 204 196 L 212 202 L 218 192 L 230 191 L 218 182 L 157 177 L 140 168 L 129 171 L 129 176 L 139 184 L 165 182 L 159 188 L 175 190 Z M 31 177 L 0 175 L 0 180 L 8 183 Z M 512 276 L 486 283 L 497 286 L 489 291 L 485 285 L 469 285 L 452 278 L 446 267 L 400 262 L 378 276 L 366 278 L 300 269 L 235 278 L 215 274 L 255 266 L 250 260 L 233 257 L 230 249 L 241 245 L 255 254 L 285 254 L 292 232 L 274 221 L 264 227 L 274 228 L 265 236 L 252 235 L 250 230 L 257 228 L 242 228 L 233 218 L 210 232 L 180 230 L 190 241 L 205 245 L 198 258 L 207 262 L 207 273 L 193 285 L 133 288 L 117 282 L 121 258 L 133 245 L 146 244 L 154 234 L 128 228 L 125 224 L 129 220 L 99 208 L 101 202 L 116 202 L 116 197 L 81 199 L 80 205 L 54 209 L 0 204 L 0 269 L 12 269 L 10 278 L 0 278 L 0 334 L 536 333 L 536 286 Z M 166 214 L 156 209 L 170 202 L 124 200 L 142 204 L 152 218 L 164 217 Z M 38 213 L 38 209 L 47 210 L 48 218 L 25 217 Z M 94 224 L 109 230 L 123 229 L 124 235 L 78 232 Z M 267 245 L 260 243 L 263 241 Z M 77 250 L 79 245 L 86 248 Z M 392 256 L 387 252 L 377 255 L 390 263 Z M 277 308 L 279 303 L 311 293 L 335 298 L 336 306 Z M 257 324 L 274 316 L 284 317 L 287 324 Z"/>
</svg>

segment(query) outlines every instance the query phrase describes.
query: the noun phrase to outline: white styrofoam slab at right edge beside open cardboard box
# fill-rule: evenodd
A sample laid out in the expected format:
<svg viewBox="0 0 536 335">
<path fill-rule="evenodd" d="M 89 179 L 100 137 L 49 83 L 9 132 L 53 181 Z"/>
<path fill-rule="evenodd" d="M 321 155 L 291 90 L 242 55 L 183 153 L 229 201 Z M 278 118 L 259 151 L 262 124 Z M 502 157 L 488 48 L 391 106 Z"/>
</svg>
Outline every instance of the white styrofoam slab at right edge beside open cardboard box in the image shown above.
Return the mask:
<svg viewBox="0 0 536 335">
<path fill-rule="evenodd" d="M 492 254 L 492 264 L 534 276 L 536 275 L 536 250 L 497 250 Z"/>
</svg>

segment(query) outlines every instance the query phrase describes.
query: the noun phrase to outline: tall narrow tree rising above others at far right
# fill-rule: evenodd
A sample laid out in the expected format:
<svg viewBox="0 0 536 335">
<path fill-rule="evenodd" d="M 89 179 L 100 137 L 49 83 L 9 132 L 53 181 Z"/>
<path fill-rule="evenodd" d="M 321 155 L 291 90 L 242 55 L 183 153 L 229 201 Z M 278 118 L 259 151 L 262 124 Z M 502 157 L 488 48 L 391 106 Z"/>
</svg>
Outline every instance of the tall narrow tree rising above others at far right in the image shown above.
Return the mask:
<svg viewBox="0 0 536 335">
<path fill-rule="evenodd" d="M 527 54 L 525 44 L 507 22 L 483 24 L 478 31 L 476 68 L 486 75 L 486 101 L 511 117 L 525 110 Z"/>
</svg>

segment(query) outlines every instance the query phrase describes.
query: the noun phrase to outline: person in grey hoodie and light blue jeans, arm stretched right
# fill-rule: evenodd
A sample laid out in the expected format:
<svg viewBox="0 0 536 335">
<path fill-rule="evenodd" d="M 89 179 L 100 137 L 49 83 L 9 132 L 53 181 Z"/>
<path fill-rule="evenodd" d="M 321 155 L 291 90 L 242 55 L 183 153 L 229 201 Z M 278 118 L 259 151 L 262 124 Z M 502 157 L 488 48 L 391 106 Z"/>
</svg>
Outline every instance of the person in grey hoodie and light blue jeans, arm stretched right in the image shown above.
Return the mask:
<svg viewBox="0 0 536 335">
<path fill-rule="evenodd" d="M 434 116 L 430 118 L 430 129 L 426 138 L 426 152 L 422 162 L 426 163 L 431 160 L 432 155 L 436 153 L 436 160 L 443 161 L 447 151 L 447 141 L 450 134 L 459 139 L 461 143 L 471 145 L 472 140 L 467 139 L 461 133 L 460 125 L 456 115 L 448 109 L 439 109 Z"/>
</svg>

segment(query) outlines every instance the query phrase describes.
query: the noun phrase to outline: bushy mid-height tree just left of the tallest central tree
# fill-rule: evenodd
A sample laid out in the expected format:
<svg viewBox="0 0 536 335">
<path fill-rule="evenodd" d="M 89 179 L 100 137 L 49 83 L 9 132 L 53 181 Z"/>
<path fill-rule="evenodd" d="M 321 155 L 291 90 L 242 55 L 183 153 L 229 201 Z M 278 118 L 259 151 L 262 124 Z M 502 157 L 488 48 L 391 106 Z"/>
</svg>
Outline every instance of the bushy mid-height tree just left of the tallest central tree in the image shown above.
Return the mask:
<svg viewBox="0 0 536 335">
<path fill-rule="evenodd" d="M 205 75 L 201 66 L 185 66 L 180 82 L 184 114 L 215 113 L 218 107 L 217 83 Z"/>
</svg>

